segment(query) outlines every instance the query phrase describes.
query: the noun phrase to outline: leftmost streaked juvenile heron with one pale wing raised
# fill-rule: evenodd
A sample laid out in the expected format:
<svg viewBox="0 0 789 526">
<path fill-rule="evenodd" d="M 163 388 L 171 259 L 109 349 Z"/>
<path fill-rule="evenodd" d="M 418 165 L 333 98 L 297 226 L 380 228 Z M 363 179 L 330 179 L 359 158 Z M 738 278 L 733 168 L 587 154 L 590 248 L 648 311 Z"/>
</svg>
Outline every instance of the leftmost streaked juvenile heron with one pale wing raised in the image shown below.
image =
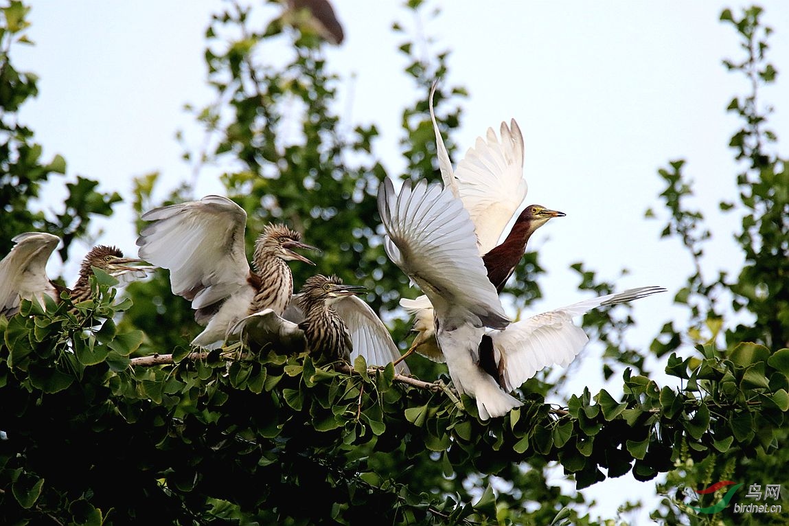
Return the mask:
<svg viewBox="0 0 789 526">
<path fill-rule="evenodd" d="M 120 282 L 144 278 L 151 266 L 133 266 L 145 263 L 142 259 L 125 258 L 115 247 L 99 245 L 91 249 L 82 260 L 77 282 L 71 289 L 47 277 L 47 261 L 60 243 L 60 238 L 50 233 L 26 232 L 11 240 L 13 248 L 0 261 L 0 314 L 6 316 L 19 311 L 21 300 L 33 300 L 43 304 L 44 296 L 60 302 L 61 293 L 69 293 L 72 303 L 91 298 L 90 277 L 93 267 L 114 276 Z"/>
</svg>

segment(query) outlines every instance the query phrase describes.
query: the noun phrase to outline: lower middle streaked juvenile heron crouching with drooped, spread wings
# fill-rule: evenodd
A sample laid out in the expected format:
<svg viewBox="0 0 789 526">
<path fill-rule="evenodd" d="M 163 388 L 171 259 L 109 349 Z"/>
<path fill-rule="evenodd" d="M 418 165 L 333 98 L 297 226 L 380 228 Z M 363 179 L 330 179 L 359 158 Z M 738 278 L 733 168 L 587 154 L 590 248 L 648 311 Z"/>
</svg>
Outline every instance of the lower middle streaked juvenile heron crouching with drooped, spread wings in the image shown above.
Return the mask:
<svg viewBox="0 0 789 526">
<path fill-rule="evenodd" d="M 322 327 L 342 326 L 350 338 L 344 360 L 353 364 L 357 356 L 363 356 L 368 365 L 380 367 L 397 362 L 400 351 L 376 312 L 357 297 L 361 290 L 342 285 L 334 276 L 313 276 L 294 295 L 282 316 L 267 308 L 242 318 L 231 331 L 242 334 L 249 344 L 273 345 L 281 352 L 301 353 L 320 346 L 320 338 L 312 334 L 320 334 Z M 346 343 L 345 338 L 342 341 Z M 325 354 L 331 358 L 342 353 L 342 349 L 329 349 Z M 405 362 L 395 364 L 394 371 L 410 373 Z"/>
</svg>

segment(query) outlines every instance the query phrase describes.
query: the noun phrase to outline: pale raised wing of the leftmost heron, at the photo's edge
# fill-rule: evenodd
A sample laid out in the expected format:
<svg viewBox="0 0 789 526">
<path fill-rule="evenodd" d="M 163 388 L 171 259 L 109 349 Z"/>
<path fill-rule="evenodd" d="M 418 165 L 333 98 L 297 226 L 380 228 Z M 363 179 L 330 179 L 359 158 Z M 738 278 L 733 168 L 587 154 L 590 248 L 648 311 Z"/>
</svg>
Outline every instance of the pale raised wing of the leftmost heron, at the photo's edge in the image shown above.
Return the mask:
<svg viewBox="0 0 789 526">
<path fill-rule="evenodd" d="M 21 299 L 33 297 L 43 304 L 46 294 L 58 296 L 47 277 L 47 261 L 60 243 L 50 233 L 25 232 L 11 240 L 15 244 L 0 261 L 0 313 L 11 315 L 19 308 Z"/>
</svg>

